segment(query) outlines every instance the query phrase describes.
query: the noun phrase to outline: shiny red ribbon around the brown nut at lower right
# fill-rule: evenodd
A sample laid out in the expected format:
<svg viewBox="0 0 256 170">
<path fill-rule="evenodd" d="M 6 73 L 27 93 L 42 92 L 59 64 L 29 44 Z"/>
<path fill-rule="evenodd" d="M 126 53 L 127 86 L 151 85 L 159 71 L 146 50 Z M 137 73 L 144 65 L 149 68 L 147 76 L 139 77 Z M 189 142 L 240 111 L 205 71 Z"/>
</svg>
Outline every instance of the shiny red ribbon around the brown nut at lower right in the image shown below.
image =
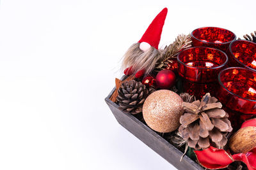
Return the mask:
<svg viewBox="0 0 256 170">
<path fill-rule="evenodd" d="M 245 121 L 241 128 L 247 126 L 256 127 L 256 118 Z M 195 150 L 196 158 L 201 166 L 208 169 L 221 169 L 227 167 L 234 161 L 241 161 L 246 164 L 249 170 L 256 170 L 256 148 L 247 153 L 230 155 L 225 150 L 210 146 L 205 150 Z"/>
</svg>

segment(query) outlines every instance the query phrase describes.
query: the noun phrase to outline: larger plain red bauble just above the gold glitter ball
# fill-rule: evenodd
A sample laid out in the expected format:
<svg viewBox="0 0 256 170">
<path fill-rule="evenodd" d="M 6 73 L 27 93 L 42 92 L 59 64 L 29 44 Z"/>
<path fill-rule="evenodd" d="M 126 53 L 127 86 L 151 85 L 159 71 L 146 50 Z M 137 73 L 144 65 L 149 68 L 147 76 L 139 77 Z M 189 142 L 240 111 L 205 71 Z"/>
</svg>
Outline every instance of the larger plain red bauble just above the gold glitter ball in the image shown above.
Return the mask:
<svg viewBox="0 0 256 170">
<path fill-rule="evenodd" d="M 156 84 L 160 89 L 170 89 L 175 84 L 175 74 L 168 69 L 159 71 L 156 75 Z"/>
</svg>

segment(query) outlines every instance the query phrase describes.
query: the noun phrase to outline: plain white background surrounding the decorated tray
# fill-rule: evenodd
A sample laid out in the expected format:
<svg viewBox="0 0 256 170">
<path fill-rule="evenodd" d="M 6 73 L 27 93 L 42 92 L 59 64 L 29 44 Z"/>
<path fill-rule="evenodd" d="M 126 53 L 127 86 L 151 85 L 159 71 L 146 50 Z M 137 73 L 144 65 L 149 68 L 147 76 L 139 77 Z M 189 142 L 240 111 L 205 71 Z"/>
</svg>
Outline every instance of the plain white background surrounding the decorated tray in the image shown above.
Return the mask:
<svg viewBox="0 0 256 170">
<path fill-rule="evenodd" d="M 164 7 L 160 46 L 197 27 L 255 31 L 255 4 L 2 0 L 0 169 L 175 169 L 104 102 L 120 59 Z"/>
</svg>

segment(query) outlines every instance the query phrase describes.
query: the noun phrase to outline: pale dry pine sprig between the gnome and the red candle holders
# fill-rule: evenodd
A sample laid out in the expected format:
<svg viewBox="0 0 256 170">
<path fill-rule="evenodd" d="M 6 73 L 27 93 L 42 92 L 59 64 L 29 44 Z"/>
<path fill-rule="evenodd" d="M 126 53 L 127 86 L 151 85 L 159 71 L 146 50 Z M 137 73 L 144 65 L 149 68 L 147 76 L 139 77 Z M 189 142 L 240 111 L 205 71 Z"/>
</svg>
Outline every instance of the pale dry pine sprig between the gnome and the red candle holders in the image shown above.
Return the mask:
<svg viewBox="0 0 256 170">
<path fill-rule="evenodd" d="M 164 49 L 161 50 L 163 56 L 156 64 L 156 70 L 162 70 L 167 66 L 167 64 L 172 63 L 172 59 L 177 57 L 180 50 L 190 47 L 191 43 L 192 41 L 190 35 L 180 34 L 177 36 L 172 44 L 165 46 Z"/>
</svg>

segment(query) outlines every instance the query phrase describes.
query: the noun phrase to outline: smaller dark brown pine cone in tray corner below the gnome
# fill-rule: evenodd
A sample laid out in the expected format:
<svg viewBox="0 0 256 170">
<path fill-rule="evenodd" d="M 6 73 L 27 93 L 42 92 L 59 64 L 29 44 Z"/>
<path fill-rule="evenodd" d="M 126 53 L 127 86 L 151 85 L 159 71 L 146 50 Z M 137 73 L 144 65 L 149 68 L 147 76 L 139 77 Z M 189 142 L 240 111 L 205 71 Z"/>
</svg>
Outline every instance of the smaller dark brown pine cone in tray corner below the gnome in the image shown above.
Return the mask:
<svg viewBox="0 0 256 170">
<path fill-rule="evenodd" d="M 141 113 L 143 103 L 149 92 L 141 82 L 130 80 L 122 83 L 116 97 L 120 109 L 127 113 Z"/>
</svg>

